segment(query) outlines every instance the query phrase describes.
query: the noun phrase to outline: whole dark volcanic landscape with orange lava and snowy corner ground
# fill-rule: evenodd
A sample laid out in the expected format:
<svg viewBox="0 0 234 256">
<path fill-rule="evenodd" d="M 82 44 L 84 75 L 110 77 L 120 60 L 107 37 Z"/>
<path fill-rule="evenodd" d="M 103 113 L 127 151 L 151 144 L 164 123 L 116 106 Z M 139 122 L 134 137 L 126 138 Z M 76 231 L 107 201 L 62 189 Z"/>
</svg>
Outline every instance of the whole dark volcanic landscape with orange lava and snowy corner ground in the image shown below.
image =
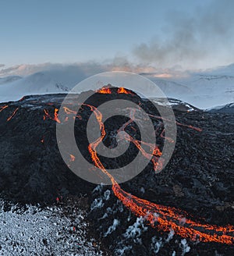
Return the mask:
<svg viewBox="0 0 234 256">
<path fill-rule="evenodd" d="M 202 111 L 169 99 L 176 116 L 176 148 L 168 165 L 158 173 L 161 149 L 164 141 L 170 140 L 164 136 L 163 119 L 151 104 L 154 100 L 156 105 L 163 105 L 160 99 L 149 101 L 125 88 L 108 86 L 96 91 L 85 103 L 80 102 L 83 107 L 78 113 L 73 104 L 60 109 L 66 113 L 66 119 L 59 119 L 58 110 L 65 97 L 66 94 L 33 95 L 0 104 L 0 221 L 5 226 L 0 229 L 2 255 L 9 253 L 9 248 L 12 254 L 22 255 L 234 254 L 232 111 Z M 144 108 L 157 137 L 156 148 L 147 145 L 154 155 L 148 159 L 147 167 L 121 184 L 107 169 L 129 162 L 144 141 L 134 122 L 137 110 L 131 120 L 117 116 L 110 122 L 101 122 L 98 105 L 116 98 Z M 127 111 L 122 109 L 123 114 Z M 120 127 L 129 133 L 129 137 L 123 138 L 129 140 L 126 154 L 108 162 L 95 152 L 99 140 L 90 147 L 86 126 L 93 112 L 101 130 L 99 139 L 107 147 L 118 143 L 113 134 Z M 94 168 L 102 169 L 112 185 L 82 180 L 63 162 L 56 125 L 67 119 L 76 119 L 74 133 L 76 143 L 82 145 L 83 156 Z M 148 157 L 146 151 L 140 154 Z M 76 161 L 72 152 L 68 152 L 68 158 L 71 165 Z M 58 218 L 55 221 L 55 213 L 59 222 Z M 18 218 L 16 223 L 20 222 L 19 216 L 26 216 L 25 226 L 20 222 L 25 230 L 30 229 L 35 215 L 40 229 L 44 217 L 50 219 L 54 215 L 51 222 L 57 223 L 56 229 L 36 232 L 31 249 L 24 241 L 28 240 L 26 235 L 19 241 L 18 236 L 5 233 L 8 229 L 12 233 L 19 231 L 10 226 L 12 215 Z"/>
</svg>

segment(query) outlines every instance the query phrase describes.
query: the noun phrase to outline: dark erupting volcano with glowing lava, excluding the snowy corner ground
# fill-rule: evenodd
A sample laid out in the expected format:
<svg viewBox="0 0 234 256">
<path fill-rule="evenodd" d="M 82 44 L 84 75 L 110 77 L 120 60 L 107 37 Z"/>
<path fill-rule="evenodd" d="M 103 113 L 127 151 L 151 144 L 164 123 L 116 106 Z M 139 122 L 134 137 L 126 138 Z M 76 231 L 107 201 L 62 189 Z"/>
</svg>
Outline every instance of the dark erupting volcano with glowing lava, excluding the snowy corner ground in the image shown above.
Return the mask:
<svg viewBox="0 0 234 256">
<path fill-rule="evenodd" d="M 77 144 L 83 143 L 90 112 L 95 112 L 100 102 L 113 100 L 116 95 L 137 103 L 154 119 L 154 127 L 158 128 L 155 157 L 159 157 L 165 140 L 159 113 L 151 101 L 121 87 L 101 88 L 89 98 L 81 113 L 74 113 L 69 106 L 64 109 L 68 118 L 76 119 Z M 34 95 L 0 105 L 0 191 L 5 201 L 46 206 L 59 197 L 88 197 L 90 229 L 101 240 L 107 254 L 108 251 L 122 255 L 233 254 L 232 113 L 204 112 L 171 99 L 177 138 L 166 168 L 156 173 L 158 162 L 149 161 L 143 172 L 121 187 L 115 180 L 112 186 L 97 186 L 71 172 L 58 151 L 56 124 L 65 122 L 58 116 L 65 96 Z M 159 99 L 154 101 L 156 105 L 168 107 Z M 105 139 L 107 147 L 115 146 L 112 130 L 119 129 L 121 121 L 116 118 L 105 123 L 108 129 L 101 139 Z M 131 127 L 137 129 L 134 123 L 125 128 L 129 131 Z M 133 138 L 129 152 L 118 165 L 135 154 L 137 141 L 143 143 L 139 134 L 134 135 L 133 128 L 129 131 Z M 95 156 L 95 151 L 89 151 L 89 144 L 85 145 L 83 154 L 87 160 L 106 169 L 109 162 L 102 165 L 102 159 Z M 72 164 L 74 156 L 69 154 L 69 157 Z M 112 165 L 115 164 L 113 161 Z M 156 212 L 150 212 L 153 208 Z M 167 217 L 160 222 L 161 215 Z M 192 227 L 196 227 L 197 233 L 188 236 Z M 202 233 L 208 236 L 200 239 Z"/>
</svg>

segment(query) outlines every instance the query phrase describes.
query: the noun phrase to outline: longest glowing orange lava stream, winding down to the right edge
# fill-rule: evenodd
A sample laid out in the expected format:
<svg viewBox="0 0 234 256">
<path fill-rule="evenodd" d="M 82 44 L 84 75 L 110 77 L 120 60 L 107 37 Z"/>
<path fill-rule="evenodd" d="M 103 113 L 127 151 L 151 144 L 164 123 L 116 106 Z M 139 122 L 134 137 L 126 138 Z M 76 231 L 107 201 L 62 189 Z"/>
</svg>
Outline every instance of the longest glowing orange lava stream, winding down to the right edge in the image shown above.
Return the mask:
<svg viewBox="0 0 234 256">
<path fill-rule="evenodd" d="M 94 162 L 94 165 L 101 169 L 109 179 L 112 181 L 112 190 L 116 197 L 122 201 L 131 212 L 137 216 L 143 216 L 152 227 L 157 227 L 163 231 L 174 230 L 180 236 L 189 238 L 191 240 L 200 240 L 202 242 L 216 242 L 222 244 L 233 244 L 233 237 L 227 233 L 234 232 L 234 226 L 215 226 L 210 224 L 202 224 L 200 222 L 194 222 L 193 220 L 187 219 L 188 214 L 177 208 L 163 206 L 160 204 L 154 204 L 150 201 L 140 199 L 122 190 L 119 183 L 115 181 L 113 176 L 105 169 L 100 159 L 97 157 L 97 145 L 101 143 L 101 140 L 105 137 L 105 126 L 102 123 L 101 112 L 94 108 L 94 106 L 88 105 L 91 111 L 99 123 L 101 136 L 97 138 L 93 143 L 90 143 L 88 150 L 90 156 Z M 130 140 L 137 145 L 137 140 Z M 137 146 L 138 148 L 138 146 Z M 184 222 L 179 220 L 186 216 Z"/>
</svg>

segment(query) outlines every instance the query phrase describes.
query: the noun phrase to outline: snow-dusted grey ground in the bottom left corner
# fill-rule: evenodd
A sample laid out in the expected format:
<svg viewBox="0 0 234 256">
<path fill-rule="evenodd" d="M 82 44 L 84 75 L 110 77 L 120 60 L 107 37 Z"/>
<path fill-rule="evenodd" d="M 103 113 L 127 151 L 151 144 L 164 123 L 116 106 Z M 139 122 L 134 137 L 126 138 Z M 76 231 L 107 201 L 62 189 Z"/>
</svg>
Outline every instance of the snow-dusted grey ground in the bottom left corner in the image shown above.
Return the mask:
<svg viewBox="0 0 234 256">
<path fill-rule="evenodd" d="M 102 255 L 99 244 L 87 237 L 86 212 L 77 209 L 70 216 L 59 206 L 4 205 L 1 200 L 1 255 Z"/>
</svg>

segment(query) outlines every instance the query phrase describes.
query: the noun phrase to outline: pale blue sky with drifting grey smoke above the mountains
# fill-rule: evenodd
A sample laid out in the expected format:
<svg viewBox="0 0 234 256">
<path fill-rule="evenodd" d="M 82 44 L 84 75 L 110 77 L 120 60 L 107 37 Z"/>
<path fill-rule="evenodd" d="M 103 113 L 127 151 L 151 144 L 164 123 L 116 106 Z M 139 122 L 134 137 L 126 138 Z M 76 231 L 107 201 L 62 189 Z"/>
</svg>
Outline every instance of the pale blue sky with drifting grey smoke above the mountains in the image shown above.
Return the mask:
<svg viewBox="0 0 234 256">
<path fill-rule="evenodd" d="M 234 62 L 232 0 L 0 0 L 0 68 L 131 62 L 202 69 Z"/>
</svg>

